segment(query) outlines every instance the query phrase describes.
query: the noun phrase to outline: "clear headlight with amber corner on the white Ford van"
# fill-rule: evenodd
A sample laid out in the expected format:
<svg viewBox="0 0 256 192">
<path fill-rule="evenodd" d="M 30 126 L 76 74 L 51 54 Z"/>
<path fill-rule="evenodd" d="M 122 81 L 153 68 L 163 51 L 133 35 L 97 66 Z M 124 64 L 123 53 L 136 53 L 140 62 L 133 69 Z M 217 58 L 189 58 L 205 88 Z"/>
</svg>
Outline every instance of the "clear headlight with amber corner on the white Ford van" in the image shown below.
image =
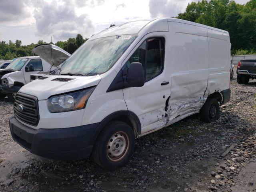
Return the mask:
<svg viewBox="0 0 256 192">
<path fill-rule="evenodd" d="M 51 113 L 59 113 L 85 108 L 86 102 L 94 88 L 91 87 L 77 92 L 52 96 L 47 101 L 48 110 Z"/>
</svg>

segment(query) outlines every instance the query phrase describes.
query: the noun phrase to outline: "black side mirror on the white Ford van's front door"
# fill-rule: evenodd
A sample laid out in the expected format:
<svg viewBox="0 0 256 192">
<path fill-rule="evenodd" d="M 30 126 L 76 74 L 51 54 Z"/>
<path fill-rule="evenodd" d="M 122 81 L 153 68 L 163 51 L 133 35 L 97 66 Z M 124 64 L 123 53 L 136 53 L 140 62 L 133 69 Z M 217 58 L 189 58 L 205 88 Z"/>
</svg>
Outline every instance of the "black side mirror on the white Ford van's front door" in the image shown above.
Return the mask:
<svg viewBox="0 0 256 192">
<path fill-rule="evenodd" d="M 141 63 L 131 63 L 126 77 L 126 81 L 132 87 L 144 86 L 144 72 Z"/>
</svg>

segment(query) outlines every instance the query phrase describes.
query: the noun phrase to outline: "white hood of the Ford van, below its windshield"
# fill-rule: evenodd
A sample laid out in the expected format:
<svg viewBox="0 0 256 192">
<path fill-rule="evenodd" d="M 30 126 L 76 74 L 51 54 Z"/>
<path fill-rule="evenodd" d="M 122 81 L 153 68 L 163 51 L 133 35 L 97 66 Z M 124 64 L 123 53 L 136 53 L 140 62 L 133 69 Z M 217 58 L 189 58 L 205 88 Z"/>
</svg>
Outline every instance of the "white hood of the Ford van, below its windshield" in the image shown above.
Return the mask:
<svg viewBox="0 0 256 192">
<path fill-rule="evenodd" d="M 45 78 L 47 77 L 47 78 Z M 22 88 L 19 92 L 36 96 L 38 100 L 48 99 L 52 95 L 64 94 L 91 86 L 96 86 L 101 77 L 96 76 L 64 76 L 64 75 L 47 75 L 45 79 L 34 80 Z M 56 81 L 56 78 L 72 79 L 69 81 Z"/>
</svg>

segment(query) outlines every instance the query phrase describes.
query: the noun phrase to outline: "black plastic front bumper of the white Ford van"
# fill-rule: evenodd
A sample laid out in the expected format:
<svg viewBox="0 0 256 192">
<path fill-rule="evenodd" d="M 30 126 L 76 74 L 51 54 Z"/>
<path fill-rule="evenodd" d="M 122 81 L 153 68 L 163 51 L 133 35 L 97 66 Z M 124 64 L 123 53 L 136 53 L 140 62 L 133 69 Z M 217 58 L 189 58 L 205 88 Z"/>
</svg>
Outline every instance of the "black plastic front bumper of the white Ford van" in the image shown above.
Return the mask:
<svg viewBox="0 0 256 192">
<path fill-rule="evenodd" d="M 12 138 L 31 153 L 56 160 L 75 160 L 90 156 L 90 141 L 98 123 L 72 128 L 35 130 L 21 124 L 12 116 L 9 125 Z"/>
</svg>

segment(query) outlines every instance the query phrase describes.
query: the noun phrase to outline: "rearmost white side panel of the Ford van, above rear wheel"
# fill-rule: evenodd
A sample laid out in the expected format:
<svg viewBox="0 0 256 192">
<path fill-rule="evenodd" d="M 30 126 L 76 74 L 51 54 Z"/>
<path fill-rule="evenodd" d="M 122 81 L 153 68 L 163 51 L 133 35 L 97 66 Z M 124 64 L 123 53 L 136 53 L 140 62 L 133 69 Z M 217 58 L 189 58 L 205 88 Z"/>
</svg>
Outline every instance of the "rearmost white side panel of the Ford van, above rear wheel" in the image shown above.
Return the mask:
<svg viewBox="0 0 256 192">
<path fill-rule="evenodd" d="M 228 32 L 208 30 L 209 79 L 207 93 L 212 94 L 229 88 L 230 40 Z"/>
</svg>

